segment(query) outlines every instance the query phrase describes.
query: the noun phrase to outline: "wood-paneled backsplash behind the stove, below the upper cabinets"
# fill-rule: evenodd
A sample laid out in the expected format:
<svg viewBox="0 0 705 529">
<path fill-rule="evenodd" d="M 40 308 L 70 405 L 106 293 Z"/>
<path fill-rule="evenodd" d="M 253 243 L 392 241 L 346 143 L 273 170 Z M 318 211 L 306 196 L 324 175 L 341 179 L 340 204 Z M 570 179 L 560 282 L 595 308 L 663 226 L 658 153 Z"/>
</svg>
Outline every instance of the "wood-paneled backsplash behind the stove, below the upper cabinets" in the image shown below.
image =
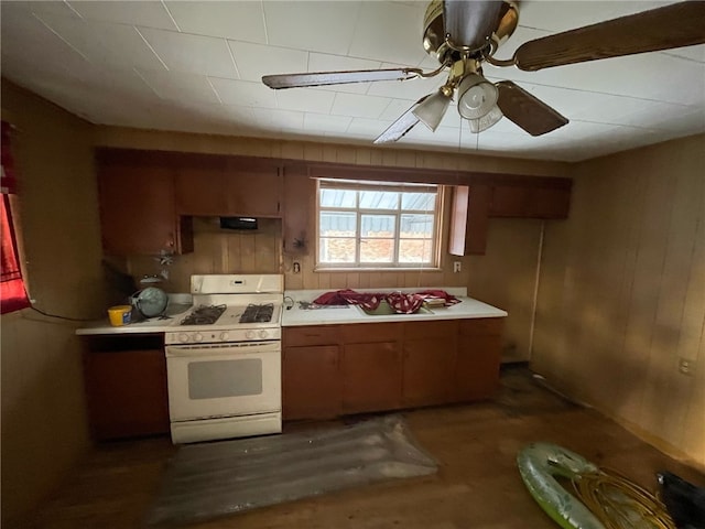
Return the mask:
<svg viewBox="0 0 705 529">
<path fill-rule="evenodd" d="M 126 260 L 127 272 L 139 282 L 143 276 L 167 279 L 159 285 L 167 292 L 188 292 L 195 273 L 281 273 L 282 222 L 258 218 L 256 230 L 220 228 L 219 217 L 194 217 L 194 251 L 174 256 L 163 266 L 158 256 L 133 256 Z"/>
</svg>

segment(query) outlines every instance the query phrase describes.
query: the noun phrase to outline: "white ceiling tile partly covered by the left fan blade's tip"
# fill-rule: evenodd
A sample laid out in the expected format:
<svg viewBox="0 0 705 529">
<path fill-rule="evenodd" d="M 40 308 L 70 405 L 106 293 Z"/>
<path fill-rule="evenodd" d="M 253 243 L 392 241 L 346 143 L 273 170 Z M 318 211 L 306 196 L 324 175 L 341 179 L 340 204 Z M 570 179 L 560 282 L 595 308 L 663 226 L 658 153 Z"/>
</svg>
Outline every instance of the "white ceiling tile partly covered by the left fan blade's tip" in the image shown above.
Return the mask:
<svg viewBox="0 0 705 529">
<path fill-rule="evenodd" d="M 306 72 L 306 52 L 237 41 L 228 41 L 228 45 L 243 80 L 261 82 L 263 75 Z"/>
</svg>

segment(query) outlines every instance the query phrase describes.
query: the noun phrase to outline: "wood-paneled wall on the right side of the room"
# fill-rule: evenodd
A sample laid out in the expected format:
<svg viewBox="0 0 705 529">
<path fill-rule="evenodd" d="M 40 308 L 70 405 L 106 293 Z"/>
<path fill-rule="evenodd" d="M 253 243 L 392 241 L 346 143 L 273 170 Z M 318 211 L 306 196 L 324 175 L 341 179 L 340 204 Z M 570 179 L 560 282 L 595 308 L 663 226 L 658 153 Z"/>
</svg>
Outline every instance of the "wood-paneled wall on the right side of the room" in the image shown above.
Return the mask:
<svg viewBox="0 0 705 529">
<path fill-rule="evenodd" d="M 705 467 L 703 168 L 705 136 L 576 166 L 571 217 L 546 227 L 532 365 Z"/>
</svg>

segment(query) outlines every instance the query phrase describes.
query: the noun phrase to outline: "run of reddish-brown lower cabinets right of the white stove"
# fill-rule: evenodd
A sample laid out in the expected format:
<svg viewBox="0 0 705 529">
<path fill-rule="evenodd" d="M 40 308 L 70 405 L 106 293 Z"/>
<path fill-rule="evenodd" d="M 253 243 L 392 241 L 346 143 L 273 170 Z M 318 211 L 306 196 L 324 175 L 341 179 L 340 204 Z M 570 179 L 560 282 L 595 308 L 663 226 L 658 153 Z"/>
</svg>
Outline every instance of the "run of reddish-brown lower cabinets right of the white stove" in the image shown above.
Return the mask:
<svg viewBox="0 0 705 529">
<path fill-rule="evenodd" d="M 283 330 L 283 415 L 323 419 L 490 397 L 501 319 Z"/>
</svg>

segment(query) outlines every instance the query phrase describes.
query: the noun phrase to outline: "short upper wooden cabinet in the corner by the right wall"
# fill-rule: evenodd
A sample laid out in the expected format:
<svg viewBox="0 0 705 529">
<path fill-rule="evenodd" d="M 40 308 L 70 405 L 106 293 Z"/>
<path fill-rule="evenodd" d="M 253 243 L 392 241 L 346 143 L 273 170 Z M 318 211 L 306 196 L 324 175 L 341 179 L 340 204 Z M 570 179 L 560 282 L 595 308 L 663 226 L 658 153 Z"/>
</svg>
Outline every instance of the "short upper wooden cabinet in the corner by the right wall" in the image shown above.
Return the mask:
<svg viewBox="0 0 705 529">
<path fill-rule="evenodd" d="M 491 217 L 567 218 L 571 186 L 561 180 L 553 186 L 495 185 Z"/>
</svg>

